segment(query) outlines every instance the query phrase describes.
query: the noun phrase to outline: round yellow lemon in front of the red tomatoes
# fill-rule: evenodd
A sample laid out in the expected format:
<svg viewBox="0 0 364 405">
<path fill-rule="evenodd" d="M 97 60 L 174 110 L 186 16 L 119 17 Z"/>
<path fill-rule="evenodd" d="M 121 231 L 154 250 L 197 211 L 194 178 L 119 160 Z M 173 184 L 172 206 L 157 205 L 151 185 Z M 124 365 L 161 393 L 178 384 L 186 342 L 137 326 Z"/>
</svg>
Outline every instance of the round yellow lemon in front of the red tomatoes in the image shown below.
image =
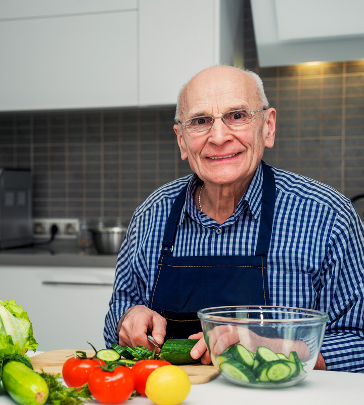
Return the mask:
<svg viewBox="0 0 364 405">
<path fill-rule="evenodd" d="M 187 373 L 178 366 L 162 366 L 147 379 L 146 395 L 157 405 L 177 405 L 191 390 Z"/>
</svg>

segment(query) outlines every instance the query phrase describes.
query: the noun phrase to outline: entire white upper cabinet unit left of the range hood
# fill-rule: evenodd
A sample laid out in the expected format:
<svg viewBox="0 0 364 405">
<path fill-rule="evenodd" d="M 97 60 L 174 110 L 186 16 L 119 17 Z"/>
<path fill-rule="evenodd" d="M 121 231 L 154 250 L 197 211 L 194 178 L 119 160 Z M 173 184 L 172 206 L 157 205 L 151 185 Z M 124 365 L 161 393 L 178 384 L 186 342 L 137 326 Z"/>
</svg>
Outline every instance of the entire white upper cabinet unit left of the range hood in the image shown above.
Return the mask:
<svg viewBox="0 0 364 405">
<path fill-rule="evenodd" d="M 218 63 L 242 64 L 242 0 L 0 4 L 0 111 L 175 104 Z"/>
</svg>

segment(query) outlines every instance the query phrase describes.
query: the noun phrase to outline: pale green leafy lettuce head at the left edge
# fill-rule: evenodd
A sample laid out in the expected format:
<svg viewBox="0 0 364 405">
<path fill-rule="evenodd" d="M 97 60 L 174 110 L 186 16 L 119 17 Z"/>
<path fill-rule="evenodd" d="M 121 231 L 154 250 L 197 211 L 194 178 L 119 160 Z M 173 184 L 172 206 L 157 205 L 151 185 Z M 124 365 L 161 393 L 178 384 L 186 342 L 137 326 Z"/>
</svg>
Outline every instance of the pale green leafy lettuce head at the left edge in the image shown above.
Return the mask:
<svg viewBox="0 0 364 405">
<path fill-rule="evenodd" d="M 14 300 L 0 301 L 0 353 L 25 354 L 36 351 L 38 343 L 28 314 Z"/>
</svg>

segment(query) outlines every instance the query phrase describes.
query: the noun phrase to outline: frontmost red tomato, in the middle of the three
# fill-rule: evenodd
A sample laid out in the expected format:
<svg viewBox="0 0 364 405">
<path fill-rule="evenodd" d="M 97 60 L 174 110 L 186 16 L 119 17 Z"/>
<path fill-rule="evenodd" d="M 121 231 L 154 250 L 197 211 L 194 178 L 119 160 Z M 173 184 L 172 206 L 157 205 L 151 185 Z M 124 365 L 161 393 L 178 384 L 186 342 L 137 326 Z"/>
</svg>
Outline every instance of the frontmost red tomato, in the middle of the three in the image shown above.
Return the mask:
<svg viewBox="0 0 364 405">
<path fill-rule="evenodd" d="M 88 389 L 101 403 L 121 403 L 134 391 L 134 378 L 126 366 L 119 366 L 113 372 L 97 368 L 89 376 Z"/>
</svg>

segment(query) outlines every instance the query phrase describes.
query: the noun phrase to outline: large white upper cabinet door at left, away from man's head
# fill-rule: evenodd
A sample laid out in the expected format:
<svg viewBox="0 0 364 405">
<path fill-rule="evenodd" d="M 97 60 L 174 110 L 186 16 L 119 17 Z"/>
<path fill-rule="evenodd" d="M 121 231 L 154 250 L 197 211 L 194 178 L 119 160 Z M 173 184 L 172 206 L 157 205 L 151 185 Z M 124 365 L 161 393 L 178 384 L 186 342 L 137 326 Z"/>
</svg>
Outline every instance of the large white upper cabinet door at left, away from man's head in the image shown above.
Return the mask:
<svg viewBox="0 0 364 405">
<path fill-rule="evenodd" d="M 0 111 L 136 105 L 137 11 L 0 21 Z"/>
</svg>

